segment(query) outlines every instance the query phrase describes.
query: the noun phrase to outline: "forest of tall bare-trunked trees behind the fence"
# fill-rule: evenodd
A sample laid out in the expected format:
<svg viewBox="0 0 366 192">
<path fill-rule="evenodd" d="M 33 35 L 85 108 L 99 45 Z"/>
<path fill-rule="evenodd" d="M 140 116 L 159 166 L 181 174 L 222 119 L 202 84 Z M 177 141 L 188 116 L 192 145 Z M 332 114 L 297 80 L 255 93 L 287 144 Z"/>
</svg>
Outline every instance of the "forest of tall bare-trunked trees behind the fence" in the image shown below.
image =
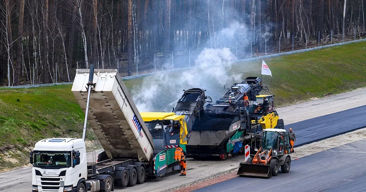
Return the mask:
<svg viewBox="0 0 366 192">
<path fill-rule="evenodd" d="M 77 67 L 117 60 L 132 75 L 136 65 L 153 68 L 156 53 L 167 63 L 206 47 L 264 52 L 292 36 L 299 46 L 329 41 L 331 31 L 359 38 L 365 8 L 366 0 L 0 0 L 0 84 L 52 83 L 56 74 L 70 82 Z M 231 30 L 239 35 L 225 36 Z"/>
</svg>

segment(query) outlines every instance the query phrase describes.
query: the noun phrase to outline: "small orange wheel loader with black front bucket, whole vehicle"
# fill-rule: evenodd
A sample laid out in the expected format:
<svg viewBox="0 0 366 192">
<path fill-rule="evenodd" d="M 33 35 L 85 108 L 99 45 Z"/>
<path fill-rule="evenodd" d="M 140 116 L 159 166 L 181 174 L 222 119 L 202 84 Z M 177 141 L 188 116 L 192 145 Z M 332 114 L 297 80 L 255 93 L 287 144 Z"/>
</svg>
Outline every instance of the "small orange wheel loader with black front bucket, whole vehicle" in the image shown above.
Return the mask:
<svg viewBox="0 0 366 192">
<path fill-rule="evenodd" d="M 264 129 L 260 148 L 240 163 L 237 175 L 271 178 L 279 173 L 288 173 L 291 167 L 289 132 L 285 129 Z"/>
</svg>

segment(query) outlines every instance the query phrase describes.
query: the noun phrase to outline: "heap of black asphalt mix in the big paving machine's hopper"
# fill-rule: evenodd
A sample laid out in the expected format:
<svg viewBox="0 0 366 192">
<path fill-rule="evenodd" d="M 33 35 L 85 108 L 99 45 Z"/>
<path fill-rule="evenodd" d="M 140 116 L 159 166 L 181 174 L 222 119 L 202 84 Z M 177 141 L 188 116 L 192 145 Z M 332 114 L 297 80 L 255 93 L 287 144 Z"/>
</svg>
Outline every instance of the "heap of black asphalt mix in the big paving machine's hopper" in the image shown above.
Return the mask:
<svg viewBox="0 0 366 192">
<path fill-rule="evenodd" d="M 231 118 L 211 118 L 208 115 L 201 116 L 201 120 L 196 119 L 192 131 L 219 131 L 229 130 Z"/>
</svg>

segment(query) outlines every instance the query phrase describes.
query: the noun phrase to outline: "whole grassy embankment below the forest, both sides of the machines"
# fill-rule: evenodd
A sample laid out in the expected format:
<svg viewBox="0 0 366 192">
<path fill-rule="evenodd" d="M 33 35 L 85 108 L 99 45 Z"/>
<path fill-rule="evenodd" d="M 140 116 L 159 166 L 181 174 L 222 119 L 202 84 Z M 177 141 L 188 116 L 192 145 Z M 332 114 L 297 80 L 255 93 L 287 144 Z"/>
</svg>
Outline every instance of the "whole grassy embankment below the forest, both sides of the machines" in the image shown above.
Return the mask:
<svg viewBox="0 0 366 192">
<path fill-rule="evenodd" d="M 265 61 L 273 76 L 263 76 L 264 84 L 276 95 L 277 106 L 366 86 L 366 42 Z M 257 67 L 243 72 L 243 78 L 260 74 L 261 61 L 237 63 L 231 70 L 238 73 L 249 65 Z M 142 79 L 125 83 L 131 89 Z M 83 112 L 71 93 L 71 85 L 0 89 L 0 172 L 27 164 L 31 146 L 42 138 L 80 137 L 82 123 Z M 95 139 L 92 131 L 88 131 L 87 138 Z"/>
</svg>

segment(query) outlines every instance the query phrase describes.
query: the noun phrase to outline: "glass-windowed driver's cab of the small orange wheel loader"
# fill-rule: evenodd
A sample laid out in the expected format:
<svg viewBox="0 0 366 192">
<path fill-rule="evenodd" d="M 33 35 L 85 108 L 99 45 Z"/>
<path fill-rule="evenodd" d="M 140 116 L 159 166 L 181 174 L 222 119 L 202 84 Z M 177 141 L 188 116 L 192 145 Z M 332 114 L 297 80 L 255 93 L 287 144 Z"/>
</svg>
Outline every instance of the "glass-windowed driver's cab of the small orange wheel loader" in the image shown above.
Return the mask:
<svg viewBox="0 0 366 192">
<path fill-rule="evenodd" d="M 272 149 L 273 155 L 290 153 L 290 137 L 285 129 L 264 129 L 261 147 L 263 150 Z"/>
</svg>

